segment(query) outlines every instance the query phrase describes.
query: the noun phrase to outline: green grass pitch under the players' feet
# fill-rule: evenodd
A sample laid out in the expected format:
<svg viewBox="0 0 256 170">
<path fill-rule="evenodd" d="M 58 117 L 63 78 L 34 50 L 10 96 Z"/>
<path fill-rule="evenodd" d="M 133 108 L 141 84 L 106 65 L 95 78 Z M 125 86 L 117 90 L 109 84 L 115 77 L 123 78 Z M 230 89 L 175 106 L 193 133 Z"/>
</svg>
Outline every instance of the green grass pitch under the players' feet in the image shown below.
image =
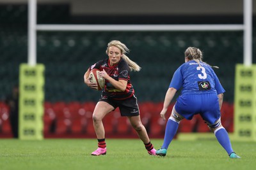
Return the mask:
<svg viewBox="0 0 256 170">
<path fill-rule="evenodd" d="M 158 149 L 163 139 L 151 139 Z M 148 155 L 140 139 L 106 139 L 107 155 L 91 153 L 97 139 L 0 139 L 0 169 L 232 169 L 256 167 L 256 143 L 234 142 L 229 159 L 216 140 L 172 141 L 166 157 Z"/>
</svg>

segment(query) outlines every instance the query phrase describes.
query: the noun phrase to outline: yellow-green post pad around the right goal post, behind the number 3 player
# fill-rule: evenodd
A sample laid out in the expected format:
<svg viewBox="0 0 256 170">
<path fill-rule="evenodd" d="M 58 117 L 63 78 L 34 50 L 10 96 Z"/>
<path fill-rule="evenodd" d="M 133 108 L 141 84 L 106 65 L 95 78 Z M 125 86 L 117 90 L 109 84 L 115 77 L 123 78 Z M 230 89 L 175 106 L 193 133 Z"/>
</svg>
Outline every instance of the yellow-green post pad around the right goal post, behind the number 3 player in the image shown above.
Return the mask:
<svg viewBox="0 0 256 170">
<path fill-rule="evenodd" d="M 237 64 L 235 86 L 235 137 L 256 141 L 256 65 Z"/>
</svg>

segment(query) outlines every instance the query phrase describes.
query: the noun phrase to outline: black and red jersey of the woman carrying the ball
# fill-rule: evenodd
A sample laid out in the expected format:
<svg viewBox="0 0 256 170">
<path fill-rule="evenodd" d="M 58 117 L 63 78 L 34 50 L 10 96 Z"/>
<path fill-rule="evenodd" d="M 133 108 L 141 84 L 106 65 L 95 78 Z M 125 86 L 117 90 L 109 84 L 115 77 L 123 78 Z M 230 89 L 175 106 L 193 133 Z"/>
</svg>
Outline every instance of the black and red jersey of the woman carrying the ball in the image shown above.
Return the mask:
<svg viewBox="0 0 256 170">
<path fill-rule="evenodd" d="M 111 83 L 109 83 L 108 80 L 106 80 L 102 96 L 112 97 L 116 100 L 123 100 L 131 97 L 134 94 L 134 89 L 130 80 L 130 68 L 124 59 L 121 58 L 118 64 L 114 66 L 110 66 L 109 59 L 100 60 L 93 64 L 93 66 L 90 67 L 90 70 L 91 69 L 99 69 L 100 71 L 104 69 L 106 73 L 108 73 L 108 75 L 116 81 L 127 81 L 127 87 L 125 91 L 122 92 L 121 90 L 116 89 Z"/>
</svg>

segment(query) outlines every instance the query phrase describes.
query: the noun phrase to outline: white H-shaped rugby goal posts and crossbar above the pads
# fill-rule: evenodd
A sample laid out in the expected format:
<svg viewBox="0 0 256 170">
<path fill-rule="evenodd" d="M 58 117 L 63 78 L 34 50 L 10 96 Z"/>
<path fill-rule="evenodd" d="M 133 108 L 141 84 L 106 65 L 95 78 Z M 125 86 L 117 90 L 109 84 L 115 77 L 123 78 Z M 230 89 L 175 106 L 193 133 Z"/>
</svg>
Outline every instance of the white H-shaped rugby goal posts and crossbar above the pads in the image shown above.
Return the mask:
<svg viewBox="0 0 256 170">
<path fill-rule="evenodd" d="M 36 0 L 29 0 L 28 64 L 36 64 L 37 31 L 243 31 L 243 64 L 252 65 L 252 0 L 243 0 L 243 24 L 58 25 L 36 24 Z"/>
</svg>

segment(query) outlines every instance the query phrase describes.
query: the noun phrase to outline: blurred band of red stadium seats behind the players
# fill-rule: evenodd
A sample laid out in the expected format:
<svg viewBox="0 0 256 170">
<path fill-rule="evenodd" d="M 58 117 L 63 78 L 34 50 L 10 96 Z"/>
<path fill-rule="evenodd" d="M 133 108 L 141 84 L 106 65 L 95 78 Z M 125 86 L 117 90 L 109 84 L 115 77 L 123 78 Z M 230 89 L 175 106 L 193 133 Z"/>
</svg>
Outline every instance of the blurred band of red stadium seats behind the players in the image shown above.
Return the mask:
<svg viewBox="0 0 256 170">
<path fill-rule="evenodd" d="M 95 108 L 93 102 L 58 102 L 44 103 L 44 135 L 45 138 L 80 136 L 91 138 L 95 136 L 93 129 L 92 113 Z M 166 113 L 166 118 L 170 117 L 172 103 Z M 147 129 L 151 138 L 163 138 L 166 122 L 159 116 L 163 103 L 145 102 L 140 103 L 141 122 Z M 228 132 L 233 132 L 234 106 L 230 103 L 223 103 L 221 109 L 221 122 Z M 136 131 L 131 127 L 126 117 L 120 116 L 117 108 L 103 120 L 106 136 L 118 138 L 136 138 Z M 192 120 L 182 120 L 179 125 L 179 132 L 210 132 L 204 120 L 199 115 L 195 115 Z M 9 110 L 6 104 L 0 102 L 0 138 L 12 134 L 9 122 Z"/>
</svg>

